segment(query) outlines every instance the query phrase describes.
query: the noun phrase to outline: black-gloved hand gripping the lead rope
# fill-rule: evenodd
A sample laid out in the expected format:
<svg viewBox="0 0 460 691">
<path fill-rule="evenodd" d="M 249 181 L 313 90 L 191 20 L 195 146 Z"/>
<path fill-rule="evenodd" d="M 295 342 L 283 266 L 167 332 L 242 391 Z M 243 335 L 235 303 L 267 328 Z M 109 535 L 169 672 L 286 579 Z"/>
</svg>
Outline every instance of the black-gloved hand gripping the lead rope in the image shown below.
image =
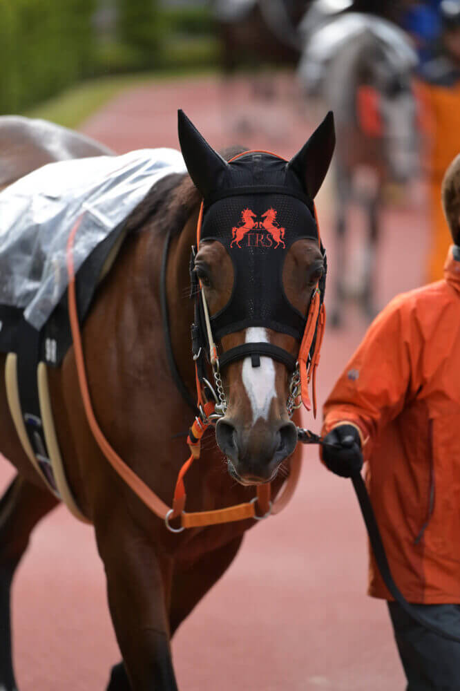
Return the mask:
<svg viewBox="0 0 460 691">
<path fill-rule="evenodd" d="M 341 477 L 351 477 L 361 471 L 363 452 L 356 428 L 338 425 L 324 437 L 323 442 L 323 461 L 329 471 Z"/>
</svg>

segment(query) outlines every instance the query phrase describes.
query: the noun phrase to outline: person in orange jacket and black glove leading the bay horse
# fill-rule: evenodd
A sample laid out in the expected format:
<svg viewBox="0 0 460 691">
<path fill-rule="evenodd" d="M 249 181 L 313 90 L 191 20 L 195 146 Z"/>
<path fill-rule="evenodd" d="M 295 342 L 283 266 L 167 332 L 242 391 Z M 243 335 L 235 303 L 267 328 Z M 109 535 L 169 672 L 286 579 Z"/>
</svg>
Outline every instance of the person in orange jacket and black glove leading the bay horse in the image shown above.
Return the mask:
<svg viewBox="0 0 460 691">
<path fill-rule="evenodd" d="M 443 180 L 454 245 L 444 279 L 396 297 L 324 407 L 323 461 L 366 481 L 392 575 L 425 619 L 460 637 L 460 155 Z M 391 600 L 374 558 L 369 594 Z M 460 643 L 389 602 L 408 691 L 460 690 Z"/>
</svg>

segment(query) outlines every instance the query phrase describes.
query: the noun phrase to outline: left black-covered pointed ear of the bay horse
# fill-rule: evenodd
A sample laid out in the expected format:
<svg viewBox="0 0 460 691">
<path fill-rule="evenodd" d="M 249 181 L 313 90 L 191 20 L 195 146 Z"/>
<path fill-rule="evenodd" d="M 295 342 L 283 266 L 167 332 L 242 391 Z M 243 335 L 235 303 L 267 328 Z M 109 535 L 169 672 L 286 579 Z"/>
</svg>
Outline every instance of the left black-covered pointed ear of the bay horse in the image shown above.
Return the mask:
<svg viewBox="0 0 460 691">
<path fill-rule="evenodd" d="M 206 197 L 219 184 L 228 163 L 209 146 L 184 111 L 178 111 L 179 142 L 190 177 L 198 191 Z"/>
</svg>

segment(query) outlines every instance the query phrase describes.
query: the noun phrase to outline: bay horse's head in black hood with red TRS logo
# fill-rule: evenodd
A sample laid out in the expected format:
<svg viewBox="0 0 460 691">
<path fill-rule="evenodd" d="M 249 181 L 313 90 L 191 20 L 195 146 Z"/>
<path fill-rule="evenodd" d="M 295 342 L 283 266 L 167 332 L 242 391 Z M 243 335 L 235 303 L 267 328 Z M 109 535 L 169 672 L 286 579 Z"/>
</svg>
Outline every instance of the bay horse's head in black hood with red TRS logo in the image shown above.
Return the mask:
<svg viewBox="0 0 460 691">
<path fill-rule="evenodd" d="M 209 312 L 204 349 L 211 362 L 217 346 L 215 436 L 232 477 L 260 484 L 276 475 L 297 444 L 289 387 L 312 294 L 325 271 L 313 199 L 332 159 L 334 119 L 329 113 L 289 162 L 266 152 L 227 162 L 182 111 L 179 138 L 204 200 L 194 272 Z M 267 208 L 277 209 L 286 226 L 280 249 L 252 220 Z M 245 214 L 254 229 L 232 246 L 232 228 Z"/>
</svg>

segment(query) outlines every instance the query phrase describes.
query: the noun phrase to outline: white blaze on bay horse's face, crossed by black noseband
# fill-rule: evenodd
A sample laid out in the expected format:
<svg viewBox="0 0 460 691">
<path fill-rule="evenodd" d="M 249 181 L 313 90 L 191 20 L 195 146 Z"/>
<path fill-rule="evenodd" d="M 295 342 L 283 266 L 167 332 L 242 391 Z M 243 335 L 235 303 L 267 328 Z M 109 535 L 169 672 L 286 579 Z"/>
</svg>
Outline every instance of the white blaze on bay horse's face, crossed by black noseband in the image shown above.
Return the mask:
<svg viewBox="0 0 460 691">
<path fill-rule="evenodd" d="M 246 330 L 246 343 L 269 343 L 267 330 L 253 326 Z M 250 357 L 242 366 L 242 383 L 251 404 L 252 419 L 268 419 L 270 405 L 275 397 L 275 365 L 271 357 L 260 357 L 260 367 L 253 367 Z"/>
</svg>

